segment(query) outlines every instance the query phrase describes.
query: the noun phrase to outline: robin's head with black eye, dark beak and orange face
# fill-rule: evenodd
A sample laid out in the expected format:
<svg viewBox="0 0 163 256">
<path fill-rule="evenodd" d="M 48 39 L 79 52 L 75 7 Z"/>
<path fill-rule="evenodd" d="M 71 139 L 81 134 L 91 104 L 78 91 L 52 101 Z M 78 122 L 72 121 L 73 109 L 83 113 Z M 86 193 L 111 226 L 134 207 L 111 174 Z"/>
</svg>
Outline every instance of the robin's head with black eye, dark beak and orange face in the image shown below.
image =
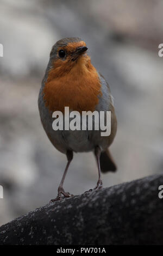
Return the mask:
<svg viewBox="0 0 163 256">
<path fill-rule="evenodd" d="M 56 42 L 50 54 L 55 74 L 62 75 L 90 59 L 86 54 L 86 44 L 80 38 L 64 38 Z"/>
</svg>

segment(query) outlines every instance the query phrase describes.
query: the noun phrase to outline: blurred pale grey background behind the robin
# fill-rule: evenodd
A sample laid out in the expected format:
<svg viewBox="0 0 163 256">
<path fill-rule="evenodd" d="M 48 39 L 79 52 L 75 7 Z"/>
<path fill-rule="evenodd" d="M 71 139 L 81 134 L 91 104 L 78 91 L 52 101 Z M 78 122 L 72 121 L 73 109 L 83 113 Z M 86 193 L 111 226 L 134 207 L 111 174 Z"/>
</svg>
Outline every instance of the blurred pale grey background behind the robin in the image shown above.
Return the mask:
<svg viewBox="0 0 163 256">
<path fill-rule="evenodd" d="M 57 196 L 66 156 L 43 131 L 37 95 L 52 45 L 67 36 L 86 41 L 115 99 L 118 171 L 103 175 L 104 187 L 162 172 L 162 11 L 162 0 L 1 0 L 0 225 Z M 94 156 L 75 154 L 65 190 L 96 181 Z"/>
</svg>

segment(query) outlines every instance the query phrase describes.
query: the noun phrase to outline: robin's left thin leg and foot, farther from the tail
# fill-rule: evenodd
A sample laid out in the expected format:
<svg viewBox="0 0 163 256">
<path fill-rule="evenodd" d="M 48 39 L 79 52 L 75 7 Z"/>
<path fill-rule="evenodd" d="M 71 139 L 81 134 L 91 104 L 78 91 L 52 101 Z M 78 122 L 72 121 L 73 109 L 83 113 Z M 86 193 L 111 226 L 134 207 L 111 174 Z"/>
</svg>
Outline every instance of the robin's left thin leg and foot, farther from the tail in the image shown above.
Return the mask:
<svg viewBox="0 0 163 256">
<path fill-rule="evenodd" d="M 67 173 L 67 170 L 68 170 L 68 167 L 70 166 L 70 163 L 73 159 L 73 152 L 70 151 L 70 150 L 67 150 L 67 165 L 66 165 L 66 168 L 65 168 L 65 172 L 64 172 L 64 175 L 62 176 L 62 179 L 61 179 L 61 182 L 60 182 L 60 185 L 58 187 L 58 196 L 55 198 L 55 199 L 52 199 L 50 201 L 51 202 L 55 202 L 55 201 L 58 201 L 58 200 L 61 200 L 62 199 L 62 195 L 64 197 L 73 197 L 73 194 L 70 194 L 68 192 L 65 192 L 64 188 L 63 188 L 63 185 L 64 185 L 64 180 L 65 180 L 65 177 L 66 177 L 66 173 Z"/>
</svg>

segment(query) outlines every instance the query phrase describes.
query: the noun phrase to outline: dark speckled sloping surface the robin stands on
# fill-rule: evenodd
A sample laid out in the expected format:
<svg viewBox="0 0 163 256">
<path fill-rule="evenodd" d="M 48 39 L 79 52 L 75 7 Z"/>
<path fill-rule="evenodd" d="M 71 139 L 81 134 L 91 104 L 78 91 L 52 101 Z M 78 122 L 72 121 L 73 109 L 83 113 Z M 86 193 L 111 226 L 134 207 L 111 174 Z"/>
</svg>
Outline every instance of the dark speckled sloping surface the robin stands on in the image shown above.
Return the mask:
<svg viewBox="0 0 163 256">
<path fill-rule="evenodd" d="M 0 228 L 0 245 L 163 244 L 162 175 L 103 188 L 29 212 Z"/>
</svg>

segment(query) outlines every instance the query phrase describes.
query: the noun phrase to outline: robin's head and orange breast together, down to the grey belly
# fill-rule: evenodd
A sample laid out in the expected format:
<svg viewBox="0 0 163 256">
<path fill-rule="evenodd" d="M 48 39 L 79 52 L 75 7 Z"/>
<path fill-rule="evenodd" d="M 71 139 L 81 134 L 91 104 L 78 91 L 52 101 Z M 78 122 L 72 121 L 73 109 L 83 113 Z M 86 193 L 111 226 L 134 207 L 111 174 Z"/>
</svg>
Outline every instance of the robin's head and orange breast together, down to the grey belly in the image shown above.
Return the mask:
<svg viewBox="0 0 163 256">
<path fill-rule="evenodd" d="M 64 112 L 65 106 L 79 112 L 95 110 L 101 83 L 86 50 L 79 38 L 64 38 L 52 47 L 43 80 L 43 100 L 49 111 Z"/>
</svg>

